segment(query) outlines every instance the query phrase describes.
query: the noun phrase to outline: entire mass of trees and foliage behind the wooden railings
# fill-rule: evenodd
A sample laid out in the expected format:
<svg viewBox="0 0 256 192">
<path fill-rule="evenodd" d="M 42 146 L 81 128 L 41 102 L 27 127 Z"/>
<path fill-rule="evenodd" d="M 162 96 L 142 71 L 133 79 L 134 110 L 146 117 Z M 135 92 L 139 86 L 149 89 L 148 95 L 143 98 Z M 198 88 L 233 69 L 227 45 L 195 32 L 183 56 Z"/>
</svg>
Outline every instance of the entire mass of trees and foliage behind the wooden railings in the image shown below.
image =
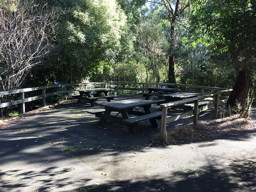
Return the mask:
<svg viewBox="0 0 256 192">
<path fill-rule="evenodd" d="M 0 91 L 165 80 L 233 88 L 242 113 L 253 102 L 255 0 L 1 0 L 0 12 Z"/>
</svg>

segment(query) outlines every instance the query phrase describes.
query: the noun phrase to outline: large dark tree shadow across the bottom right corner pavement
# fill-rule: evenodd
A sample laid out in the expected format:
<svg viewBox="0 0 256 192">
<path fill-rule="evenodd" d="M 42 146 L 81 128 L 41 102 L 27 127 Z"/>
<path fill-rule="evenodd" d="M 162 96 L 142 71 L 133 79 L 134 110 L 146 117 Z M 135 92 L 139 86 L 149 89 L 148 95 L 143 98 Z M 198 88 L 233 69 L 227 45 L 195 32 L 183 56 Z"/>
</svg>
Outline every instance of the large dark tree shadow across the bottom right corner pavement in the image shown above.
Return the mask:
<svg viewBox="0 0 256 192">
<path fill-rule="evenodd" d="M 152 179 L 134 178 L 134 180 L 115 181 L 99 185 L 86 191 L 93 192 L 231 192 L 256 191 L 256 160 L 235 160 L 228 166 L 202 166 L 197 170 L 174 172 L 161 178 L 155 175 Z"/>
</svg>

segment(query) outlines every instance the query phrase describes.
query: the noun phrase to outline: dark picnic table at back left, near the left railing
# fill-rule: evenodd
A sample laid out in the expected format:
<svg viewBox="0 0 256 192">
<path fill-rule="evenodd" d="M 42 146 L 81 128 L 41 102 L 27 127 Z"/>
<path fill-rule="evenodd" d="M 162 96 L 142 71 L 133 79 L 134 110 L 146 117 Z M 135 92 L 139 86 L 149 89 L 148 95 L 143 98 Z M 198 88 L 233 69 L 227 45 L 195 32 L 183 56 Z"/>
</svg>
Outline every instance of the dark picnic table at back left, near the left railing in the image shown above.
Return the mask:
<svg viewBox="0 0 256 192">
<path fill-rule="evenodd" d="M 77 103 L 80 103 L 81 100 L 89 101 L 91 106 L 95 106 L 95 102 L 97 99 L 107 99 L 108 102 L 114 99 L 116 95 L 109 95 L 108 93 L 113 91 L 113 89 L 109 88 L 95 88 L 95 89 L 75 89 L 74 91 L 78 91 L 79 95 L 77 97 Z M 104 94 L 104 95 L 102 95 Z"/>
</svg>

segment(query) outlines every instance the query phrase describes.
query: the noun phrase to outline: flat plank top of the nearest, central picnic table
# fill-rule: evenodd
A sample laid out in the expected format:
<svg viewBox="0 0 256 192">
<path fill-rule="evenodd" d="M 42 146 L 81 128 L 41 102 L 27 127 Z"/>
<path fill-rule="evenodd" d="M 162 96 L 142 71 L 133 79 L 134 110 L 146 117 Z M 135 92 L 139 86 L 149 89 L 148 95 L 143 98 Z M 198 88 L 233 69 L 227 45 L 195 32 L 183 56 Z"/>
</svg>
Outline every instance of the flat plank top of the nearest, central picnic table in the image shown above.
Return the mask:
<svg viewBox="0 0 256 192">
<path fill-rule="evenodd" d="M 98 103 L 98 105 L 109 109 L 128 109 L 132 107 L 141 107 L 159 102 L 159 100 L 144 100 L 144 99 L 127 99 L 113 102 Z"/>
</svg>

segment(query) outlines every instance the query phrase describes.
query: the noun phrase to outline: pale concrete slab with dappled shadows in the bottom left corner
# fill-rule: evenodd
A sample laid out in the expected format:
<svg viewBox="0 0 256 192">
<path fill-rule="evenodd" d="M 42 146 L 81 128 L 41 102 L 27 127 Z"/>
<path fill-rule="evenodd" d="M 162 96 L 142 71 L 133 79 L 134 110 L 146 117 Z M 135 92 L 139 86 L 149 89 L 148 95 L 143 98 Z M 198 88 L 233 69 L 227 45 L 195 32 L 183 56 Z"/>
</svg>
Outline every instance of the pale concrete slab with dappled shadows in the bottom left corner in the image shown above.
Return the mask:
<svg viewBox="0 0 256 192">
<path fill-rule="evenodd" d="M 71 192 L 110 181 L 31 132 L 0 129 L 1 192 Z"/>
</svg>

